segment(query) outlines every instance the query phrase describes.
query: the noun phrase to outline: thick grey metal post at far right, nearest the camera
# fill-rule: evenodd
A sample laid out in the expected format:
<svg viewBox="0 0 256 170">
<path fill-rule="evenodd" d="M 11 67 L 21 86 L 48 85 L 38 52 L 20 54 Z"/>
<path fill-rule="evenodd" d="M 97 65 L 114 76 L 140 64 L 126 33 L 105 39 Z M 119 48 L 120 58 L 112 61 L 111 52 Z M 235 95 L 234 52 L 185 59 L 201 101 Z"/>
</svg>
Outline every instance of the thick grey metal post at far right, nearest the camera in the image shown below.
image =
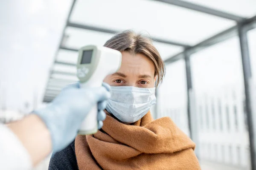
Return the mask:
<svg viewBox="0 0 256 170">
<path fill-rule="evenodd" d="M 255 105 L 253 78 L 251 73 L 250 55 L 247 40 L 247 30 L 242 25 L 239 25 L 239 40 L 241 47 L 241 59 L 244 74 L 244 93 L 245 93 L 245 107 L 248 122 L 249 141 L 250 141 L 250 159 L 251 170 L 256 170 L 256 114 L 253 105 Z"/>
</svg>

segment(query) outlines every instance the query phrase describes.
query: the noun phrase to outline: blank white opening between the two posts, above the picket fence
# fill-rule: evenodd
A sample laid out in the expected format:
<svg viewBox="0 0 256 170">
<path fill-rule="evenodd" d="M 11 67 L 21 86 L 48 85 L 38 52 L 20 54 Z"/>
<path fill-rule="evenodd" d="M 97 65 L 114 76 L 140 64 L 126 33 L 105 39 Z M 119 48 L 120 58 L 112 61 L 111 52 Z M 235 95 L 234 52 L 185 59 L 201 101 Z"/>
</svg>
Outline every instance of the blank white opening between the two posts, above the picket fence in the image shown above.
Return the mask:
<svg viewBox="0 0 256 170">
<path fill-rule="evenodd" d="M 241 86 L 243 69 L 239 38 L 233 37 L 192 54 L 191 65 L 192 76 L 196 75 L 193 81 L 196 89 L 209 91 L 226 85 Z"/>
</svg>

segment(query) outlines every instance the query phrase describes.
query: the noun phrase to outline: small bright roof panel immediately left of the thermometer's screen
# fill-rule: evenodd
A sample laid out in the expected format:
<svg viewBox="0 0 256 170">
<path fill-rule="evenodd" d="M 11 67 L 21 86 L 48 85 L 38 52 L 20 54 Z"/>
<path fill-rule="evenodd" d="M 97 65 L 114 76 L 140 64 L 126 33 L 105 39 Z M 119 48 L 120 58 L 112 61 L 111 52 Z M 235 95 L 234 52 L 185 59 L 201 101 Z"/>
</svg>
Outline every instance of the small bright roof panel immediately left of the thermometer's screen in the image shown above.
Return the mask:
<svg viewBox="0 0 256 170">
<path fill-rule="evenodd" d="M 56 61 L 76 64 L 77 59 L 78 59 L 78 52 L 60 49 L 58 51 L 58 56 L 56 58 Z"/>
</svg>

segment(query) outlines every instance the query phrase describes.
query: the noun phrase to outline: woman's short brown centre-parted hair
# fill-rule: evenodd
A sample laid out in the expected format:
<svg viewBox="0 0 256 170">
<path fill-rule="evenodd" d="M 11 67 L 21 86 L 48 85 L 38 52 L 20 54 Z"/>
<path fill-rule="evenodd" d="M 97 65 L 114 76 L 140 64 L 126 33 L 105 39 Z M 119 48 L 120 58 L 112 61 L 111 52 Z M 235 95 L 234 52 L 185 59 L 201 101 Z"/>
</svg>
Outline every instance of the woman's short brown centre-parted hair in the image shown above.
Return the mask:
<svg viewBox="0 0 256 170">
<path fill-rule="evenodd" d="M 150 37 L 143 34 L 137 34 L 132 30 L 126 30 L 113 36 L 104 44 L 104 46 L 120 52 L 128 51 L 131 54 L 145 55 L 154 63 L 154 76 L 157 76 L 156 86 L 163 81 L 165 65 Z"/>
</svg>

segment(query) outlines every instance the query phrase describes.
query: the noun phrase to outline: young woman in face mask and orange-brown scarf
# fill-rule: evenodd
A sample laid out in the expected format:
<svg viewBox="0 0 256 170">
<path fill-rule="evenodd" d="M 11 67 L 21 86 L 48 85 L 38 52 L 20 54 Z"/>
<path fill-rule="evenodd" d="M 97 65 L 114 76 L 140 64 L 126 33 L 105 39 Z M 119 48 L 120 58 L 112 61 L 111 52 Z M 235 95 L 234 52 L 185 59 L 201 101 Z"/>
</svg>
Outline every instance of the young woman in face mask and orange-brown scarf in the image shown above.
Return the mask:
<svg viewBox="0 0 256 170">
<path fill-rule="evenodd" d="M 104 125 L 53 155 L 49 170 L 200 170 L 195 143 L 170 118 L 154 120 L 149 111 L 165 74 L 151 39 L 123 31 L 104 46 L 122 52 L 121 68 L 104 80 L 111 85 Z"/>
</svg>

